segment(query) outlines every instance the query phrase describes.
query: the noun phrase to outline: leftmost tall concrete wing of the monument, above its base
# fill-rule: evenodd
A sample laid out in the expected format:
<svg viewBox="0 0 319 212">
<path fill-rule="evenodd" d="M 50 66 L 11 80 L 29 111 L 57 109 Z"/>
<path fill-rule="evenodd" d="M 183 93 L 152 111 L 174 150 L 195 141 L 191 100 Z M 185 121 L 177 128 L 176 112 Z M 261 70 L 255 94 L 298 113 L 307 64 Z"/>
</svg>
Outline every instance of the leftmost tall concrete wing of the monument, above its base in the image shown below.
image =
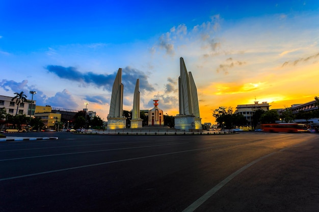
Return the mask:
<svg viewBox="0 0 319 212">
<path fill-rule="evenodd" d="M 122 69 L 120 68 L 114 80 L 112 88 L 112 96 L 110 103 L 109 117 L 123 116 L 123 84 L 122 84 Z"/>
</svg>

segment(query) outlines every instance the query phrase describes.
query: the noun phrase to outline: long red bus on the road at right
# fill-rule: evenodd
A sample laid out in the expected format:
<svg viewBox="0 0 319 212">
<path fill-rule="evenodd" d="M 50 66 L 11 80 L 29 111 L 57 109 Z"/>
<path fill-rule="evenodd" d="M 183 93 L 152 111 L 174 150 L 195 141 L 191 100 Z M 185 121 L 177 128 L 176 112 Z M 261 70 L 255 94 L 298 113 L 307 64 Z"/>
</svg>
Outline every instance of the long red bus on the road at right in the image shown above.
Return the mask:
<svg viewBox="0 0 319 212">
<path fill-rule="evenodd" d="M 261 129 L 264 132 L 271 133 L 298 133 L 298 132 L 307 132 L 307 126 L 304 124 L 297 123 L 280 123 L 280 124 L 262 124 Z"/>
</svg>

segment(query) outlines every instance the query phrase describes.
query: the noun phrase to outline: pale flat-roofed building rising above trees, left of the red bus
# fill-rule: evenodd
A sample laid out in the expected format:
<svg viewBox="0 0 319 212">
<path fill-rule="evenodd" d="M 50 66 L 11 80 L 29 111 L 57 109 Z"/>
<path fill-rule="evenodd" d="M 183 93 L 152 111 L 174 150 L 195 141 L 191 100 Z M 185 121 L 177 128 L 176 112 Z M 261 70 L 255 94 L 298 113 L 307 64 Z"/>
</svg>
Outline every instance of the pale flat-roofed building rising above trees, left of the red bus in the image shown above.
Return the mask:
<svg viewBox="0 0 319 212">
<path fill-rule="evenodd" d="M 269 103 L 262 102 L 261 104 L 258 101 L 255 101 L 254 104 L 247 104 L 247 105 L 237 105 L 234 114 L 242 114 L 247 120 L 247 126 L 252 126 L 253 122 L 253 115 L 256 110 L 269 110 Z"/>
</svg>

